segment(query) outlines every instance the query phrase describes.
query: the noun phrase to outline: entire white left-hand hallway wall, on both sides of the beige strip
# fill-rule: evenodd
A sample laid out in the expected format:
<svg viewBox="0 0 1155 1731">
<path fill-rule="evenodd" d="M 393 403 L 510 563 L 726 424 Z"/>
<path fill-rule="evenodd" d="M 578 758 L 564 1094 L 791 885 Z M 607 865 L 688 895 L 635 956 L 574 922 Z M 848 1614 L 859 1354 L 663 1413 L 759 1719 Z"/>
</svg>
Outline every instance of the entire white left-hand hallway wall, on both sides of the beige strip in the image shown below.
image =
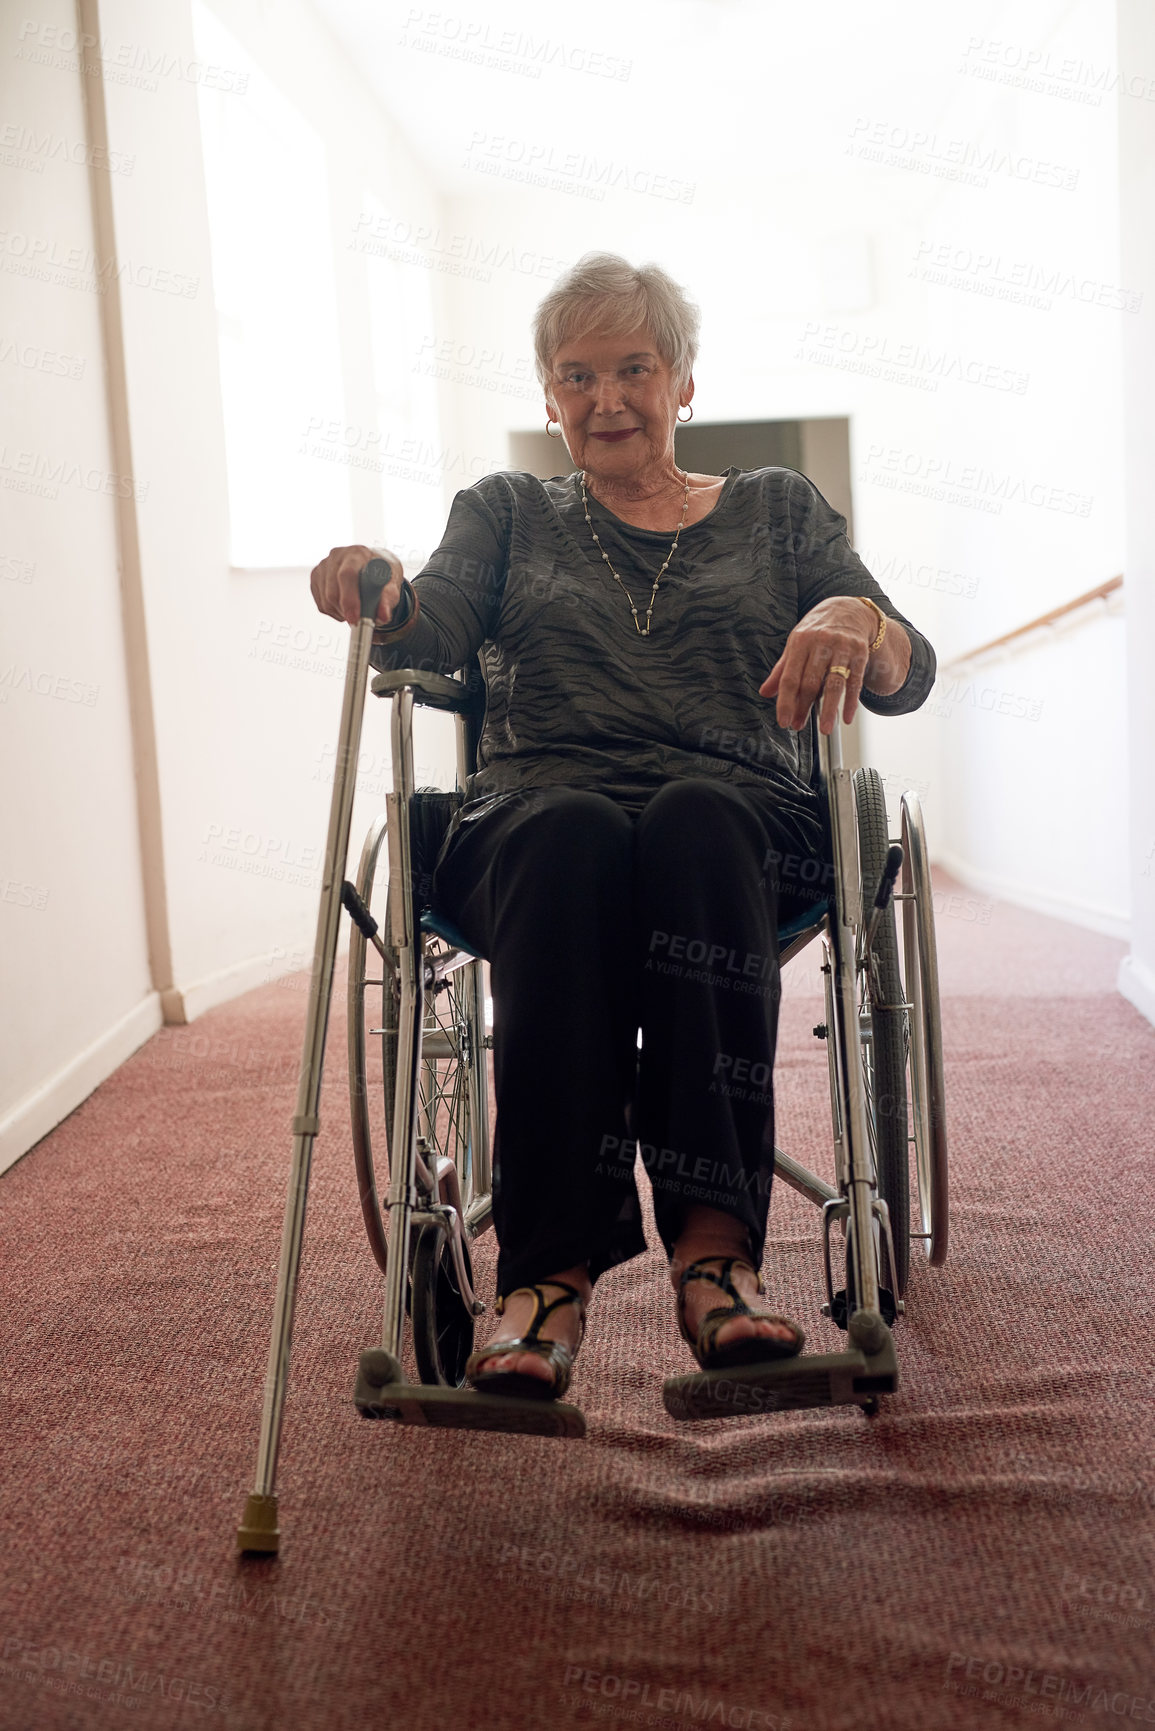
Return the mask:
<svg viewBox="0 0 1155 1731">
<path fill-rule="evenodd" d="M 0 554 L 10 623 L 0 724 L 10 734 L 14 819 L 5 826 L 0 914 L 12 980 L 0 1077 L 7 1158 L 31 1146 L 152 1032 L 161 1002 L 170 1021 L 189 1020 L 305 962 L 348 640 L 343 627 L 317 615 L 308 568 L 346 524 L 355 540 L 381 544 L 390 488 L 393 499 L 400 488 L 409 500 L 390 511 L 390 531 L 412 563 L 428 552 L 428 524 L 443 518 L 454 490 L 445 479 L 452 466 L 445 455 L 452 412 L 445 412 L 442 429 L 448 431 L 435 419 L 416 479 L 403 479 L 414 460 L 405 460 L 398 438 L 377 467 L 338 464 L 348 518 L 301 552 L 300 566 L 230 568 L 197 114 L 203 62 L 190 3 L 168 0 L 158 9 L 145 0 L 104 0 L 90 10 L 90 29 L 116 66 L 104 83 L 111 156 L 100 161 L 116 164 L 106 178 L 121 282 L 121 436 L 139 483 L 130 521 L 139 557 L 123 540 L 118 545 L 113 500 L 88 483 L 62 485 L 55 499 L 17 492 L 24 459 L 12 454 L 19 452 L 33 452 L 35 462 L 74 459 L 85 473 L 113 469 L 97 296 L 76 272 L 54 282 L 17 273 L 28 251 L 19 235 L 47 237 L 59 251 L 94 248 L 78 19 L 57 0 L 36 12 L 21 57 L 5 57 L 0 71 L 7 119 L 42 137 L 50 128 L 78 140 L 81 151 L 81 166 L 0 168 L 12 211 L 2 253 L 3 329 L 28 355 L 38 346 L 83 362 L 81 377 L 40 372 L 31 360 L 5 367 L 12 424 L 3 443 L 12 471 L 2 493 Z M 358 244 L 365 197 L 402 211 L 416 227 L 436 227 L 438 199 L 308 7 L 279 7 L 274 16 L 260 3 L 222 0 L 215 10 L 326 145 L 331 228 L 320 244 L 336 275 L 345 400 L 341 426 L 332 436 L 322 429 L 308 448 L 327 485 L 334 467 L 327 459 L 334 450 L 345 455 L 345 429 L 357 428 L 364 445 L 384 414 L 371 329 L 374 254 Z M 236 81 L 232 100 L 244 102 Z M 286 254 L 293 241 L 286 235 Z M 440 289 L 433 280 L 435 308 Z M 310 332 L 300 341 L 308 343 Z M 284 367 L 296 362 L 286 351 Z M 440 400 L 445 407 L 443 388 Z M 397 415 L 395 434 L 405 429 L 403 403 Z M 142 594 L 147 639 L 137 666 L 125 663 L 118 559 L 130 576 L 135 571 Z M 158 763 L 154 808 L 145 812 L 158 834 L 151 909 L 163 926 L 152 966 L 126 698 L 145 656 Z M 29 689 L 24 670 L 50 691 L 59 679 L 61 694 Z M 94 687 L 95 701 L 71 701 L 80 685 L 69 682 Z M 367 718 L 355 845 L 388 781 L 384 722 L 384 710 Z M 426 753 L 424 779 L 452 775 L 445 729 L 436 732 L 440 744 Z M 144 798 L 147 805 L 147 786 Z"/>
</svg>

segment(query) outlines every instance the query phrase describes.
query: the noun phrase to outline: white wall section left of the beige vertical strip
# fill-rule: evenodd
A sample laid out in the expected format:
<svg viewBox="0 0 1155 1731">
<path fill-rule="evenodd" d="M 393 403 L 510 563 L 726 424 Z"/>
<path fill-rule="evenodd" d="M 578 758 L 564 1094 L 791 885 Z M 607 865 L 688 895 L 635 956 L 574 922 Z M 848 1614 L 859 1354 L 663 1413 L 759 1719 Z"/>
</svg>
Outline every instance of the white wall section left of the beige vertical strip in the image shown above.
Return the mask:
<svg viewBox="0 0 1155 1731">
<path fill-rule="evenodd" d="M 36 23 L 12 40 L 9 21 L 0 57 L 21 128 L 0 166 L 0 1168 L 161 1020 L 118 580 L 132 478 L 109 440 L 81 80 L 52 47 L 74 43 L 74 9 L 45 0 Z"/>
</svg>

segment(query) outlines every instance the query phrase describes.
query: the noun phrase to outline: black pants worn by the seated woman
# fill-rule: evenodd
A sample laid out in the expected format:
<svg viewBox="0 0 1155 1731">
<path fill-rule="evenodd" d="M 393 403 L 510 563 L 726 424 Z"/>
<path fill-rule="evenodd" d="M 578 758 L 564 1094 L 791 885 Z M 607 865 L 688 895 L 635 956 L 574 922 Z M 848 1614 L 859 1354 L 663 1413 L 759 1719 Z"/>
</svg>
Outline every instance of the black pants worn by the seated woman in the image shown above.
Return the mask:
<svg viewBox="0 0 1155 1731">
<path fill-rule="evenodd" d="M 490 959 L 497 1290 L 646 1248 L 641 1151 L 667 1255 L 691 1203 L 762 1264 L 774 1170 L 778 885 L 764 801 L 693 777 L 639 815 L 549 788 L 461 826 L 436 905 Z M 637 1030 L 641 1028 L 641 1051 Z"/>
</svg>

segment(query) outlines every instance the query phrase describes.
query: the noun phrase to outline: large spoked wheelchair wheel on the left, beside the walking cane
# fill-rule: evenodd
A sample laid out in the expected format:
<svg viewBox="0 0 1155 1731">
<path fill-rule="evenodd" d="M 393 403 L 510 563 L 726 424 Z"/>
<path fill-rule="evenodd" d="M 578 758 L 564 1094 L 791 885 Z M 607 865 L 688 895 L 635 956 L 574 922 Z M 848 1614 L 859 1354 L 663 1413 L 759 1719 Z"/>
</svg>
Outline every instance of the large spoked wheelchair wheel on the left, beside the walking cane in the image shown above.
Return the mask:
<svg viewBox="0 0 1155 1731">
<path fill-rule="evenodd" d="M 381 1196 L 388 1191 L 388 1160 L 393 1144 L 393 1104 L 397 1096 L 397 1054 L 400 1021 L 400 985 L 397 952 L 391 943 L 386 817 L 371 827 L 357 871 L 357 891 L 372 912 L 386 956 L 369 945 L 357 926 L 350 933 L 348 966 L 348 1078 L 357 1167 L 365 1232 L 377 1267 L 388 1265 L 388 1236 Z M 442 938 L 424 936 L 424 956 L 435 959 L 447 950 Z M 424 999 L 423 1063 L 417 1085 L 417 1136 L 423 1158 L 431 1172 L 443 1156 L 457 1170 L 461 1210 L 474 1200 L 474 1123 L 473 1065 L 485 1063 L 483 1030 L 476 1030 L 474 1007 L 480 999 L 476 975 L 480 962 L 452 973 L 428 990 Z M 371 1077 L 371 1052 L 374 1054 Z M 381 1070 L 376 1073 L 376 1054 Z M 485 1127 L 480 1134 L 485 1134 Z M 429 1201 L 448 1201 L 431 1196 Z M 464 1222 L 462 1222 L 464 1224 Z M 410 1245 L 410 1276 L 416 1245 Z"/>
</svg>

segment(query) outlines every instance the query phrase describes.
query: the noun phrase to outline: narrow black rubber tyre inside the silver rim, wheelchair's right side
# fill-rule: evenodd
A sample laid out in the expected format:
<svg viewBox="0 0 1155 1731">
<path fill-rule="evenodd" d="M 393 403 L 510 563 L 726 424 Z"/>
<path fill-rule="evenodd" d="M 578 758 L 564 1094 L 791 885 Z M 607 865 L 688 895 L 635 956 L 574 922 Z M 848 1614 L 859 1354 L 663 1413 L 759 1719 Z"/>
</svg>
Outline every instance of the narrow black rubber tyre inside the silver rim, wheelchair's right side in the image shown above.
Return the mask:
<svg viewBox="0 0 1155 1731">
<path fill-rule="evenodd" d="M 869 917 L 890 848 L 887 798 L 878 770 L 854 772 L 859 820 L 859 869 L 862 876 L 862 919 Z M 897 1293 L 906 1291 L 911 1265 L 911 1179 L 906 1113 L 907 1023 L 899 969 L 899 935 L 894 900 L 874 931 L 874 973 L 859 978 L 859 1039 L 866 1082 L 868 1132 L 878 1194 L 890 1213 Z M 881 1284 L 890 1284 L 885 1253 L 880 1255 Z"/>
</svg>

